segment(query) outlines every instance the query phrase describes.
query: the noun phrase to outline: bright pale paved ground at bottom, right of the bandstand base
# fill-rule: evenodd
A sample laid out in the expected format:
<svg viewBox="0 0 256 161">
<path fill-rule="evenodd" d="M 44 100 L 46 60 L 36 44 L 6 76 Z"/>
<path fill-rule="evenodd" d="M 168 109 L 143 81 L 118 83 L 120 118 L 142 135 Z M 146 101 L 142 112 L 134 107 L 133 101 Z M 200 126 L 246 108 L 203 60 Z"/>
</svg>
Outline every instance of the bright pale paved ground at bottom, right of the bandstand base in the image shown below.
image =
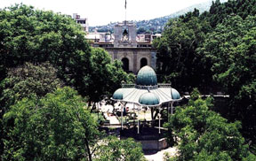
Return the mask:
<svg viewBox="0 0 256 161">
<path fill-rule="evenodd" d="M 145 155 L 148 161 L 164 161 L 164 152 L 168 152 L 169 156 L 175 156 L 177 154 L 177 148 L 176 147 L 170 147 L 168 149 L 163 149 L 161 151 L 158 151 L 156 154 L 152 155 Z"/>
</svg>

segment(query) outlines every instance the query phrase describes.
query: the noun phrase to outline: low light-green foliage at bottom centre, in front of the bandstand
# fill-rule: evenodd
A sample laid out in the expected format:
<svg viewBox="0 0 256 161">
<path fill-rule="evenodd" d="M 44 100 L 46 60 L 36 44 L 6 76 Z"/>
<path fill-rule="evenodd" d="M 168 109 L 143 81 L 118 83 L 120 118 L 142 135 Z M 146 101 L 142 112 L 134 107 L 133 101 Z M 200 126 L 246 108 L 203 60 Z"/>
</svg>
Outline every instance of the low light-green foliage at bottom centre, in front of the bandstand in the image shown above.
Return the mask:
<svg viewBox="0 0 256 161">
<path fill-rule="evenodd" d="M 99 161 L 145 161 L 141 145 L 132 138 L 119 140 L 115 136 L 108 136 L 102 141 L 96 153 L 95 160 Z"/>
</svg>

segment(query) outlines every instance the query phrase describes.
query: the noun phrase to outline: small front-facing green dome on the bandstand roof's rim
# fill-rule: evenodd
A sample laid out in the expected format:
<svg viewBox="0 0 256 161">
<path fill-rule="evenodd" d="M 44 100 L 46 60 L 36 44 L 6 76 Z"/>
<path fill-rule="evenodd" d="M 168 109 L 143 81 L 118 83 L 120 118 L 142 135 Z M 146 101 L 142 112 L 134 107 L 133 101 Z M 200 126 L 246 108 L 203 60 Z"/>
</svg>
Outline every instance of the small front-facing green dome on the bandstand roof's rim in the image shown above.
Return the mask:
<svg viewBox="0 0 256 161">
<path fill-rule="evenodd" d="M 148 92 L 140 96 L 139 103 L 142 105 L 157 105 L 160 101 L 158 96 Z"/>
</svg>

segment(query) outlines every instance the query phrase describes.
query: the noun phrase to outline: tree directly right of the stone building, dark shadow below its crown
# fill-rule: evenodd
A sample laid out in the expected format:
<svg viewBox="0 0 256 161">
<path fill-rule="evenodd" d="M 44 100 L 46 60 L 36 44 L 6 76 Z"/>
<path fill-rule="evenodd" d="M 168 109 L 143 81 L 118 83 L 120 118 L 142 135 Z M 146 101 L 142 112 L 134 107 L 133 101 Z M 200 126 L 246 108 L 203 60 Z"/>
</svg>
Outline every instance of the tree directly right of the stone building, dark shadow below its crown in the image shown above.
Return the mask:
<svg viewBox="0 0 256 161">
<path fill-rule="evenodd" d="M 198 14 L 195 10 L 180 19 L 171 19 L 162 37 L 154 42 L 158 80 L 172 81 L 174 87 L 184 92 L 196 87 L 200 90 L 212 87 L 212 72 L 196 53 L 212 28 L 209 22 L 199 19 Z"/>
</svg>

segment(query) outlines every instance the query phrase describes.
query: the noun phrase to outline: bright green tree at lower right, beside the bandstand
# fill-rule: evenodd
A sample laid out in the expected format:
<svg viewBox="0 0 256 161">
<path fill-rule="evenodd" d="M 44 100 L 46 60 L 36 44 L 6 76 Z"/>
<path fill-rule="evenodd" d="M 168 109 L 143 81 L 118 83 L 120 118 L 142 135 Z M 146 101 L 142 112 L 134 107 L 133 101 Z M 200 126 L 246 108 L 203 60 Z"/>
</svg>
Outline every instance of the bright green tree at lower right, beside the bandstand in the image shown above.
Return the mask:
<svg viewBox="0 0 256 161">
<path fill-rule="evenodd" d="M 201 98 L 191 100 L 185 108 L 177 108 L 165 126 L 179 138 L 179 160 L 231 161 L 252 155 L 239 132 L 241 124 L 228 123 L 227 119 L 210 111 Z"/>
</svg>

